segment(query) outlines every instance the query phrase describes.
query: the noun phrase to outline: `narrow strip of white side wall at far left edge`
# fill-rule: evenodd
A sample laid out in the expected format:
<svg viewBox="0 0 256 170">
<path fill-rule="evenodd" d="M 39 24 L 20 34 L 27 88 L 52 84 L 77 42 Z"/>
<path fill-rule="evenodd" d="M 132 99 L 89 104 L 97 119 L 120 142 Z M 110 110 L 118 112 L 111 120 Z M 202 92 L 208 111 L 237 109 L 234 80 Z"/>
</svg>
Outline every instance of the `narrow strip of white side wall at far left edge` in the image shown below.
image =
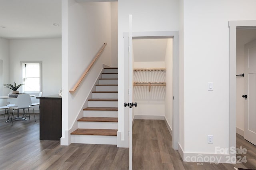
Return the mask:
<svg viewBox="0 0 256 170">
<path fill-rule="evenodd" d="M 3 84 L 9 83 L 9 40 L 0 38 L 0 60 L 2 60 L 2 77 L 0 80 L 0 90 L 1 95 L 7 95 L 9 90 L 7 88 L 3 88 Z M 0 71 L 1 72 L 1 71 Z M 6 99 L 0 99 L 0 106 L 4 106 Z"/>
</svg>

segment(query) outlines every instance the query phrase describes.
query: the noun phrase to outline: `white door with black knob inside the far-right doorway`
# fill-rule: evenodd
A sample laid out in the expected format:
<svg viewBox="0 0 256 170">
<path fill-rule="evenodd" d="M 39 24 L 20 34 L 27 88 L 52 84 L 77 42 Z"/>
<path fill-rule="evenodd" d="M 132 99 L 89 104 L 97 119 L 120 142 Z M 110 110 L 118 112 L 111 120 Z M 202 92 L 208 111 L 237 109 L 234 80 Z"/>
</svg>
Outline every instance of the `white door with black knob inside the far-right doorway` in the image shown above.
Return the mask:
<svg viewBox="0 0 256 170">
<path fill-rule="evenodd" d="M 256 40 L 245 45 L 244 138 L 256 145 Z"/>
</svg>

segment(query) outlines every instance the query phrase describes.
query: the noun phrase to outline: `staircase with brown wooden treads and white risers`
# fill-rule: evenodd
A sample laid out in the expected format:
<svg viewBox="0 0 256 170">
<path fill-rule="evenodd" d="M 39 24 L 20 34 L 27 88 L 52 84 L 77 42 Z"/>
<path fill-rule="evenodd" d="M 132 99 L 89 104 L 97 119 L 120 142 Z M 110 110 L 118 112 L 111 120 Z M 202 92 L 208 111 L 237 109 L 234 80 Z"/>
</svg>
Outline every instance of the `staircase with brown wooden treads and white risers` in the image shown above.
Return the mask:
<svg viewBox="0 0 256 170">
<path fill-rule="evenodd" d="M 78 129 L 71 133 L 72 143 L 117 144 L 118 69 L 104 68 L 101 77 Z"/>
</svg>

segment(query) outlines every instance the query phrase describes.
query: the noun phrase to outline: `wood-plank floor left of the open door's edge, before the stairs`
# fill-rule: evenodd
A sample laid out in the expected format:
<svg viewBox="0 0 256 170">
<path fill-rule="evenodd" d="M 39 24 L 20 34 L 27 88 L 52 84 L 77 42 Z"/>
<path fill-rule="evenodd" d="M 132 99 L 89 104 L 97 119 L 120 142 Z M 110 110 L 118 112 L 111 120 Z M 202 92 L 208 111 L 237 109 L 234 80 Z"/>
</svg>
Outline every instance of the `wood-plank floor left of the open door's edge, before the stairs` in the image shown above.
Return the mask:
<svg viewBox="0 0 256 170">
<path fill-rule="evenodd" d="M 33 116 L 33 115 L 32 115 Z M 13 127 L 0 115 L 0 170 L 128 170 L 129 149 L 39 140 L 39 114 Z"/>
</svg>

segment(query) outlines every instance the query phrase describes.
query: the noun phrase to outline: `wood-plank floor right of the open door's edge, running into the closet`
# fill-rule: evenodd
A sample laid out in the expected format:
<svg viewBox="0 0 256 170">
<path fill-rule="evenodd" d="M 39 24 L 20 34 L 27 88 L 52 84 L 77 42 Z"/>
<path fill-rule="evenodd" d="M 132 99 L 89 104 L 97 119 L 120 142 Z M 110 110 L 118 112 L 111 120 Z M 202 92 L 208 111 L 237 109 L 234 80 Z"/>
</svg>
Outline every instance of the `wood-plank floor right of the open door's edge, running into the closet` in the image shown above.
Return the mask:
<svg viewBox="0 0 256 170">
<path fill-rule="evenodd" d="M 256 169 L 256 146 L 237 134 L 236 147 L 246 148 L 246 163 L 210 164 L 183 162 L 178 150 L 172 148 L 172 137 L 163 120 L 134 120 L 133 125 L 133 170 L 234 170 Z"/>
</svg>

